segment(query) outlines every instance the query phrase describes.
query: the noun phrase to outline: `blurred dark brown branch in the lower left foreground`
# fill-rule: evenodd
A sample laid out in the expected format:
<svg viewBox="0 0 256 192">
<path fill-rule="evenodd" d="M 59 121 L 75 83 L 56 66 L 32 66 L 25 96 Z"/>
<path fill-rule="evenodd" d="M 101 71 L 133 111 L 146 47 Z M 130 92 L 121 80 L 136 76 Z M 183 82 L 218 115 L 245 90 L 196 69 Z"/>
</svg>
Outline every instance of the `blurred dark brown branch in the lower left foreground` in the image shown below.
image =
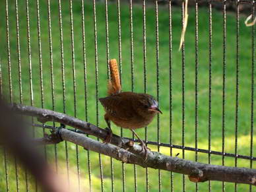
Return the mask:
<svg viewBox="0 0 256 192">
<path fill-rule="evenodd" d="M 15 115 L 10 106 L 0 99 L 0 143 L 3 144 L 5 150 L 13 154 L 18 162 L 30 171 L 43 191 L 69 191 L 67 186 L 63 184 L 66 182 L 55 174 L 44 156 L 35 148 L 34 142 L 28 136 L 25 127 L 22 119 Z"/>
</svg>

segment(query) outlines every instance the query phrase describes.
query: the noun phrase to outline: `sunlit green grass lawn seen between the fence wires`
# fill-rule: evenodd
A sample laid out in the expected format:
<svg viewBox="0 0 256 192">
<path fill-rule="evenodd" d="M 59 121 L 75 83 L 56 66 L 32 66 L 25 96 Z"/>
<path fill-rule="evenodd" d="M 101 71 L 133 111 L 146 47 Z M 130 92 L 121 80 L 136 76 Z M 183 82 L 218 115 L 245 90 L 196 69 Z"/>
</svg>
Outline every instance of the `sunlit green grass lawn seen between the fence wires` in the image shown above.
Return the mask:
<svg viewBox="0 0 256 192">
<path fill-rule="evenodd" d="M 30 80 L 28 68 L 28 46 L 26 29 L 26 7 L 24 1 L 19 1 L 19 32 L 20 32 L 20 61 L 22 74 L 22 102 L 30 105 Z M 1 7 L 5 3 L 1 1 Z M 92 4 L 86 3 L 85 11 L 85 37 L 86 37 L 86 65 L 87 65 L 87 118 L 90 123 L 100 127 L 106 127 L 104 111 L 98 106 L 99 116 L 96 118 L 96 84 L 95 84 L 95 51 L 94 51 L 94 24 Z M 96 7 L 97 32 L 98 32 L 98 96 L 106 96 L 107 87 L 107 59 L 106 59 L 106 32 L 105 32 L 105 7 L 98 3 Z M 117 7 L 110 3 L 109 7 L 109 33 L 110 33 L 110 58 L 118 59 L 118 26 Z M 143 83 L 143 11 L 141 6 L 133 7 L 133 38 L 134 38 L 134 80 L 135 92 L 144 92 Z M 181 90 L 181 51 L 178 51 L 181 33 L 181 9 L 172 9 L 172 143 L 182 144 L 182 90 Z M 3 79 L 3 93 L 9 99 L 9 76 L 6 41 L 5 11 L 0 12 L 0 57 Z M 168 7 L 159 7 L 159 101 L 163 115 L 160 115 L 160 141 L 170 142 L 170 77 L 169 77 L 169 28 Z M 66 88 L 66 112 L 75 115 L 73 94 L 73 72 L 71 52 L 71 29 L 69 16 L 69 2 L 63 1 L 63 50 L 65 63 L 65 88 Z M 77 83 L 77 108 L 76 114 L 80 119 L 85 119 L 84 104 L 84 64 L 82 50 L 82 28 L 80 1 L 73 1 L 74 20 L 74 45 L 75 45 L 75 70 Z M 238 114 L 238 154 L 249 155 L 250 153 L 250 118 L 251 118 L 251 28 L 243 24 L 245 16 L 240 19 L 240 97 Z M 51 73 L 49 57 L 48 35 L 48 11 L 46 1 L 40 1 L 40 24 L 42 40 L 42 66 L 44 80 L 44 107 L 53 109 L 51 100 Z M 121 5 L 121 46 L 122 46 L 122 83 L 123 90 L 131 90 L 131 49 L 129 30 L 129 6 Z M 146 75 L 147 92 L 156 96 L 156 32 L 155 32 L 154 7 L 149 5 L 146 9 Z M 199 9 L 199 106 L 198 106 L 198 147 L 208 148 L 208 66 L 209 66 L 209 36 L 208 36 L 208 10 Z M 11 75 L 13 86 L 13 102 L 20 102 L 20 90 L 18 85 L 18 60 L 16 52 L 16 24 L 15 4 L 9 2 L 9 34 L 11 47 Z M 51 2 L 51 36 L 53 48 L 53 73 L 55 111 L 63 112 L 63 87 L 61 82 L 61 52 L 59 34 L 59 15 L 57 1 Z M 211 141 L 212 150 L 222 150 L 222 13 L 212 11 L 212 108 L 211 108 Z M 225 146 L 226 152 L 235 152 L 235 106 L 236 106 L 236 15 L 227 15 L 226 34 L 226 127 Z M 38 59 L 38 34 L 36 22 L 36 3 L 30 2 L 30 41 L 32 62 L 32 83 L 34 93 L 34 106 L 42 107 L 40 92 L 40 68 Z M 148 140 L 157 141 L 156 119 L 148 126 Z M 120 134 L 117 127 L 113 131 Z M 144 129 L 138 130 L 139 135 L 144 135 Z M 42 131 L 36 128 L 36 135 L 40 137 Z M 131 137 L 130 131 L 124 130 L 125 137 Z M 195 11 L 189 9 L 189 22 L 185 36 L 185 146 L 195 146 Z M 253 142 L 255 145 L 255 140 Z M 75 145 L 68 144 L 69 167 L 71 182 L 77 185 L 77 158 Z M 150 146 L 157 150 L 155 146 Z M 164 154 L 170 154 L 169 148 L 160 148 Z M 174 154 L 180 150 L 173 150 Z M 255 149 L 253 150 L 255 154 Z M 54 148 L 47 146 L 48 160 L 54 163 Z M 66 174 L 65 147 L 57 144 L 57 162 L 59 172 Z M 185 158 L 195 160 L 194 152 L 185 152 Z M 0 191 L 5 191 L 5 172 L 3 155 L 1 159 Z M 16 189 L 15 169 L 9 159 L 9 185 L 11 191 Z M 100 167 L 98 154 L 90 152 L 92 168 L 92 187 L 94 191 L 100 191 Z M 79 147 L 80 179 L 82 189 L 88 189 L 88 164 L 87 152 Z M 208 163 L 207 154 L 199 154 L 199 162 Z M 226 165 L 234 166 L 234 158 L 226 158 Z M 212 164 L 222 164 L 221 156 L 212 155 Z M 249 167 L 248 160 L 238 160 L 238 166 Z M 104 187 L 106 191 L 111 189 L 110 158 L 102 156 L 102 168 L 104 172 Z M 253 168 L 255 164 L 253 164 Z M 121 163 L 113 160 L 113 172 L 115 177 L 115 191 L 122 189 Z M 20 191 L 25 191 L 24 172 L 18 168 Z M 150 191 L 158 191 L 158 170 L 149 170 Z M 125 165 L 125 187 L 127 191 L 134 189 L 133 165 Z M 195 191 L 195 184 L 185 177 L 187 191 Z M 138 191 L 146 189 L 145 170 L 137 166 Z M 182 191 L 182 176 L 174 174 L 174 191 Z M 33 179 L 29 179 L 30 189 L 34 189 Z M 212 181 L 212 191 L 221 191 L 222 183 Z M 208 183 L 199 183 L 200 191 L 207 191 Z M 226 191 L 234 189 L 233 183 L 226 183 Z M 238 191 L 249 189 L 248 185 L 238 185 Z M 162 191 L 170 191 L 170 173 L 162 172 Z"/>
</svg>

